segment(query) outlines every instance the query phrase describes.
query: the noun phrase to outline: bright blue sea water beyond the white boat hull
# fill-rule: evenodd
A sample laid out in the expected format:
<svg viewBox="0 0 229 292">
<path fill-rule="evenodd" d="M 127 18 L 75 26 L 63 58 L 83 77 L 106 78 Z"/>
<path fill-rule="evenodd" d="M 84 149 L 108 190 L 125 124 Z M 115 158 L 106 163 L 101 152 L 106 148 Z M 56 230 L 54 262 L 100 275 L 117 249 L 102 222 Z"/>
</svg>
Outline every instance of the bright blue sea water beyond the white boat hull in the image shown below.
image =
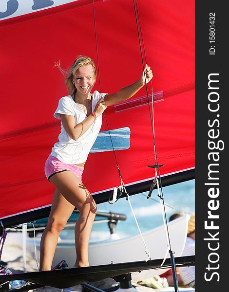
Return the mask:
<svg viewBox="0 0 229 292">
<path fill-rule="evenodd" d="M 162 189 L 166 218 L 177 212 L 184 212 L 189 215 L 195 213 L 195 181 L 177 183 Z M 157 190 L 153 190 L 150 199 L 147 199 L 148 192 L 130 196 L 134 214 L 140 226 L 141 232 L 149 231 L 155 227 L 163 225 L 162 209 Z M 120 238 L 138 235 L 134 216 L 129 202 L 119 199 L 115 204 L 101 203 L 97 205 L 98 211 L 115 212 L 125 214 L 127 219 L 117 223 L 116 232 Z M 74 233 L 66 229 L 62 231 L 62 238 L 74 239 Z M 90 241 L 105 240 L 110 237 L 108 223 L 93 224 Z"/>
</svg>

